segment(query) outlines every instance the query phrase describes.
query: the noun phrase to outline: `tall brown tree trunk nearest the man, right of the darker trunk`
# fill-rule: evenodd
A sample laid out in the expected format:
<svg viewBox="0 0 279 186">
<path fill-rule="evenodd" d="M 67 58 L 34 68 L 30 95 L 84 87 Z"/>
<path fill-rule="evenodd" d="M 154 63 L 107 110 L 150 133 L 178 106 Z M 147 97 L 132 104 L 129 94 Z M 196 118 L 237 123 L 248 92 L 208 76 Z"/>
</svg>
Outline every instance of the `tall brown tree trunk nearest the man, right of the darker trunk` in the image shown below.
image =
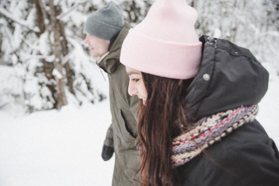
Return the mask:
<svg viewBox="0 0 279 186">
<path fill-rule="evenodd" d="M 58 94 L 58 103 L 59 106 L 64 106 L 67 104 L 66 95 L 65 95 L 65 82 L 63 80 L 63 72 L 62 72 L 62 62 L 61 62 L 61 55 L 62 55 L 62 47 L 60 42 L 60 25 L 58 23 L 58 20 L 56 19 L 56 8 L 54 7 L 53 0 L 49 0 L 49 7 L 50 7 L 50 16 L 51 16 L 51 22 L 52 22 L 52 30 L 54 33 L 54 69 L 56 69 L 60 74 L 61 77 L 59 77 L 58 74 L 54 75 L 54 79 L 56 81 L 56 88 L 57 88 L 57 94 Z"/>
</svg>

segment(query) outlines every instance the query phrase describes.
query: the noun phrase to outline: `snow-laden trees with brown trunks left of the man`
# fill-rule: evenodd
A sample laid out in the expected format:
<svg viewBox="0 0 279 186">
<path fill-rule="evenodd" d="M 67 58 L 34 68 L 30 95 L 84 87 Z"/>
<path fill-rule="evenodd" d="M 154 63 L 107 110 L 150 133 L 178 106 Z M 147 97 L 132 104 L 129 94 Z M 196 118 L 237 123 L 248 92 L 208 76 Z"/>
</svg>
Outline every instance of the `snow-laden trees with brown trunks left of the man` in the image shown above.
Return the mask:
<svg viewBox="0 0 279 186">
<path fill-rule="evenodd" d="M 16 102 L 26 112 L 34 112 L 106 98 L 107 85 L 83 46 L 82 24 L 87 15 L 78 10 L 85 3 L 88 1 L 0 2 L 1 64 L 20 71 L 20 75 L 9 73 L 9 81 L 1 82 L 1 108 Z M 102 82 L 95 85 L 95 79 Z M 10 86 L 15 82 L 20 84 L 16 93 Z"/>
</svg>

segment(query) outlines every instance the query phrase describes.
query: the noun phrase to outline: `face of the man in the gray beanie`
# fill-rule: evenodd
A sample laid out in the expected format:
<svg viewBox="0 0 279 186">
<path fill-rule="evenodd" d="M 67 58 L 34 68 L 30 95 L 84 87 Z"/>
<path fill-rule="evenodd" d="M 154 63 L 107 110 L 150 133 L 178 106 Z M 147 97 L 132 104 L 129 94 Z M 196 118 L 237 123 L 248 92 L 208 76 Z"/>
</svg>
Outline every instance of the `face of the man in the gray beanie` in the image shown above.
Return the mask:
<svg viewBox="0 0 279 186">
<path fill-rule="evenodd" d="M 110 44 L 109 40 L 97 38 L 89 33 L 86 34 L 84 42 L 88 44 L 90 53 L 93 57 L 101 57 L 104 55 L 108 51 Z"/>
</svg>

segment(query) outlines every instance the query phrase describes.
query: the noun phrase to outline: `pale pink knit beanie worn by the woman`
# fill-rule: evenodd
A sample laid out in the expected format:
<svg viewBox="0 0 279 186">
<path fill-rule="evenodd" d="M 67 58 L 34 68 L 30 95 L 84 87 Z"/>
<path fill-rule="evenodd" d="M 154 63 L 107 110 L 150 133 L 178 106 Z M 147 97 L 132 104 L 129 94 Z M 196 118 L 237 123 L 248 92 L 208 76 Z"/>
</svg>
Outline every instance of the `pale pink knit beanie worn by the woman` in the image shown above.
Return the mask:
<svg viewBox="0 0 279 186">
<path fill-rule="evenodd" d="M 161 77 L 195 77 L 202 47 L 194 28 L 196 20 L 197 12 L 186 0 L 157 0 L 146 18 L 129 30 L 120 62 Z"/>
</svg>

